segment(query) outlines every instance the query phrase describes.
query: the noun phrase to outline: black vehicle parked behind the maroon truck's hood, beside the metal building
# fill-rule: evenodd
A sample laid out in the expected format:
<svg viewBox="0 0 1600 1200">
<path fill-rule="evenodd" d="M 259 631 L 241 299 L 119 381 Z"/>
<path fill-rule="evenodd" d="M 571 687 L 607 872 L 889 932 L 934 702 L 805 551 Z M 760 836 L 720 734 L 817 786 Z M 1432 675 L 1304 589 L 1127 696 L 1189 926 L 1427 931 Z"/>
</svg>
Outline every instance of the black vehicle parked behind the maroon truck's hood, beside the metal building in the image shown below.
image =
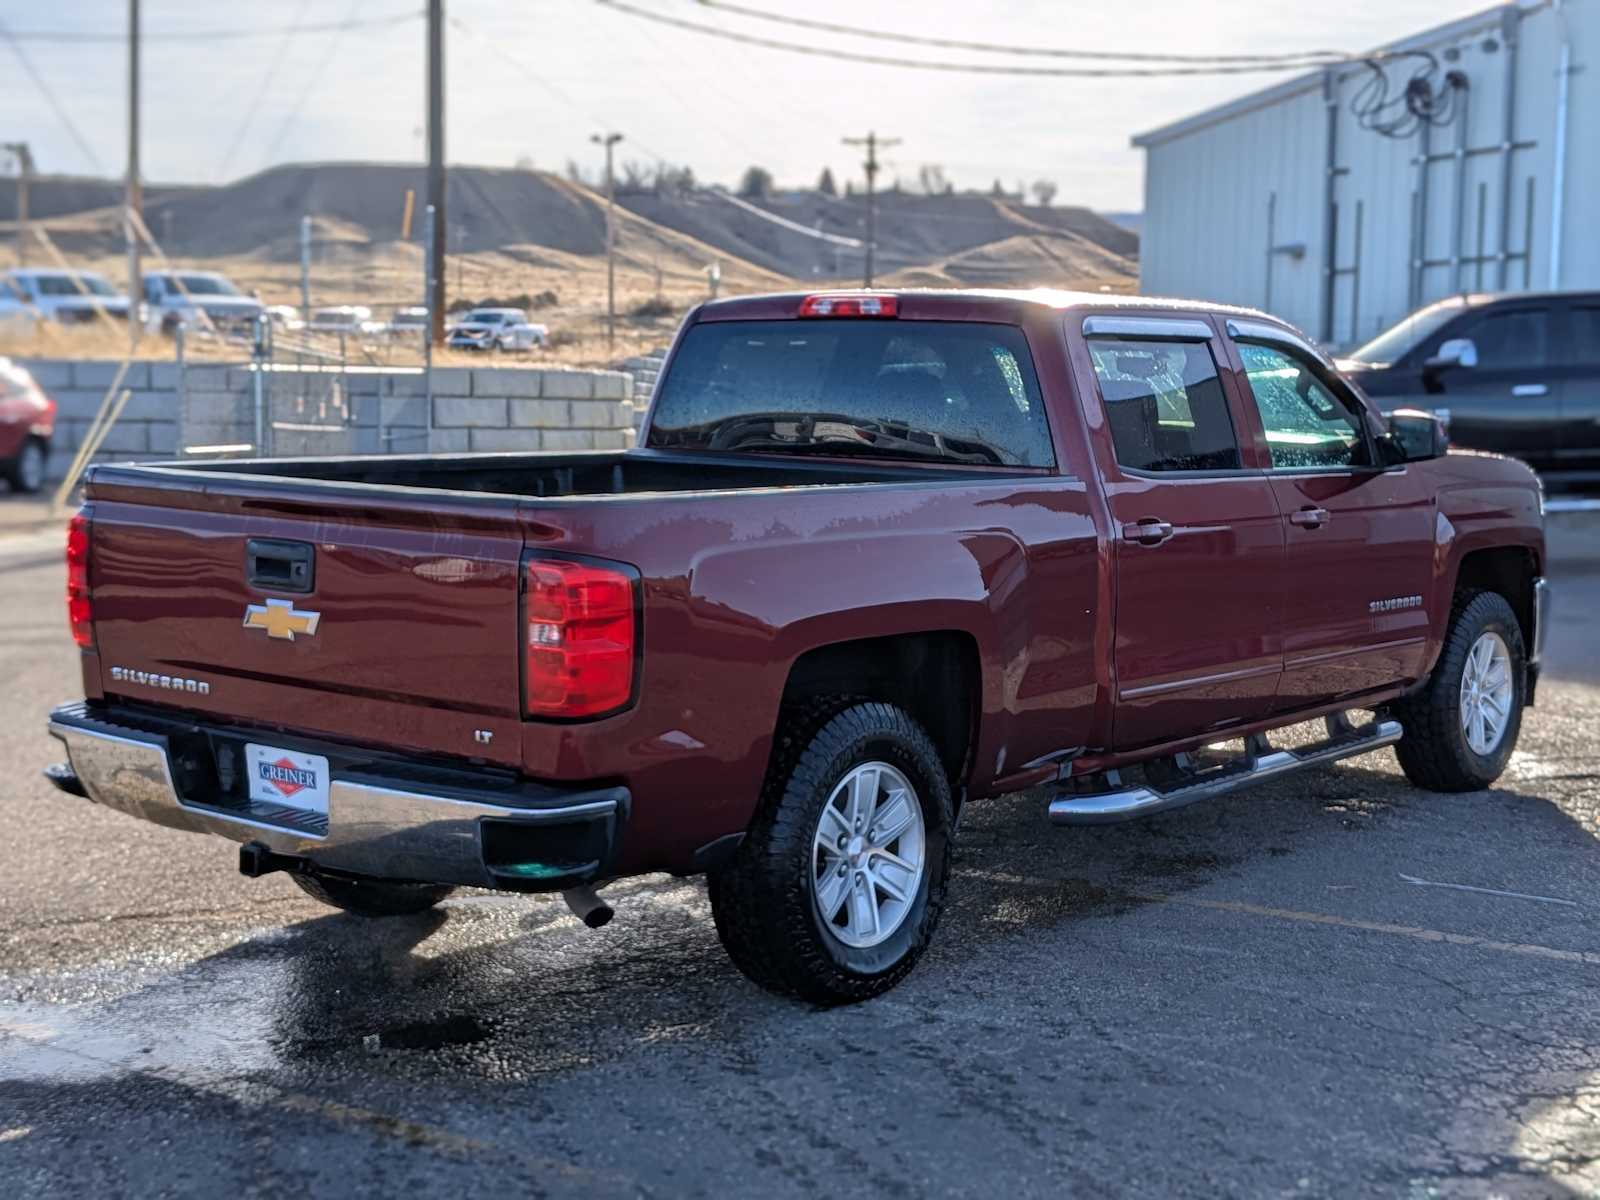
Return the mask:
<svg viewBox="0 0 1600 1200">
<path fill-rule="evenodd" d="M 1339 363 L 1379 408 L 1424 408 L 1467 450 L 1600 467 L 1600 291 L 1451 296 Z"/>
</svg>

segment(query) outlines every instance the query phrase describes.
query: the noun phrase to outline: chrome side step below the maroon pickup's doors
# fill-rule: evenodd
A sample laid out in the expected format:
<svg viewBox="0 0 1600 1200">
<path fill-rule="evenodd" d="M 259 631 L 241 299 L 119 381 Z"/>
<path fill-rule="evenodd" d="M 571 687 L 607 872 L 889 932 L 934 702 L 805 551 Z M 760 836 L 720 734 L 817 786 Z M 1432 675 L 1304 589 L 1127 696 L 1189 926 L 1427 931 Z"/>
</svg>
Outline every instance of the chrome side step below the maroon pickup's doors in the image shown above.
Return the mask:
<svg viewBox="0 0 1600 1200">
<path fill-rule="evenodd" d="M 1274 750 L 1264 734 L 1256 734 L 1246 739 L 1243 758 L 1200 771 L 1192 782 L 1181 782 L 1170 790 L 1141 786 L 1106 792 L 1064 792 L 1050 802 L 1050 819 L 1058 826 L 1109 826 L 1117 821 L 1133 821 L 1226 795 L 1306 766 L 1333 763 L 1394 746 L 1400 741 L 1400 722 L 1378 720 L 1365 728 L 1355 728 L 1344 714 L 1334 714 L 1328 717 L 1326 741 L 1294 750 Z"/>
</svg>

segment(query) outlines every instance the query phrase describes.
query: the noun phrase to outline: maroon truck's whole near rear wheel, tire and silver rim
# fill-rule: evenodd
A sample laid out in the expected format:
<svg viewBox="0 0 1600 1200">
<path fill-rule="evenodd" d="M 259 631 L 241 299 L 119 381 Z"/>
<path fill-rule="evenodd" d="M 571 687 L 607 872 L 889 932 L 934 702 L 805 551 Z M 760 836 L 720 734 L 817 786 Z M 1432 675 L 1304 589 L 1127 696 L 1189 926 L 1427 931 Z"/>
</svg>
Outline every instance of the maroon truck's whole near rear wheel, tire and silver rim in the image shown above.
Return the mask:
<svg viewBox="0 0 1600 1200">
<path fill-rule="evenodd" d="M 722 944 L 773 992 L 822 1005 L 886 992 L 938 925 L 952 826 L 944 765 L 904 710 L 787 715 L 762 810 L 710 875 Z"/>
</svg>

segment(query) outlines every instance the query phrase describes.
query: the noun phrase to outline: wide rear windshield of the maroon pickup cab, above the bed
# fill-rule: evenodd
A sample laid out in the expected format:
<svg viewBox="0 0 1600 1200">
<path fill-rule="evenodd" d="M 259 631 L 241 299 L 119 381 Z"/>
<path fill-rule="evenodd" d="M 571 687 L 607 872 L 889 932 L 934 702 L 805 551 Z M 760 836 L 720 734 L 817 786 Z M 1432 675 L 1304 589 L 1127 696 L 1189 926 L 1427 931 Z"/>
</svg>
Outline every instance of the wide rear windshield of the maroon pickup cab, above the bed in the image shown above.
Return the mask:
<svg viewBox="0 0 1600 1200">
<path fill-rule="evenodd" d="M 1014 325 L 706 322 L 661 382 L 659 448 L 1048 467 L 1043 398 Z"/>
</svg>

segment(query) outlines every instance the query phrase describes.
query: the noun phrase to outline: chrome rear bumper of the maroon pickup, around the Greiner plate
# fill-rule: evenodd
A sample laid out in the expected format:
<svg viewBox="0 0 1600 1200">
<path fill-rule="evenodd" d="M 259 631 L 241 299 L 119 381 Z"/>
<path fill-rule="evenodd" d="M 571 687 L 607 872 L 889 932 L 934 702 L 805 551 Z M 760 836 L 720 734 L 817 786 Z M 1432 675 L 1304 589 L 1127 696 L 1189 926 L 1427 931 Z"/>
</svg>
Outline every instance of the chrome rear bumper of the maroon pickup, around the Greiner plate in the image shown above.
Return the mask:
<svg viewBox="0 0 1600 1200">
<path fill-rule="evenodd" d="M 410 781 L 341 778 L 334 766 L 323 827 L 290 811 L 179 789 L 165 731 L 69 704 L 51 714 L 50 733 L 70 760 L 70 771 L 46 771 L 64 792 L 170 829 L 258 842 L 317 867 L 379 878 L 522 891 L 587 883 L 610 866 L 629 802 L 622 787 L 541 787 L 534 797 L 474 797 L 451 787 L 451 795 L 442 795 L 405 786 Z M 557 842 L 560 853 L 541 850 Z M 574 854 L 574 846 L 584 846 L 582 853 Z"/>
</svg>

